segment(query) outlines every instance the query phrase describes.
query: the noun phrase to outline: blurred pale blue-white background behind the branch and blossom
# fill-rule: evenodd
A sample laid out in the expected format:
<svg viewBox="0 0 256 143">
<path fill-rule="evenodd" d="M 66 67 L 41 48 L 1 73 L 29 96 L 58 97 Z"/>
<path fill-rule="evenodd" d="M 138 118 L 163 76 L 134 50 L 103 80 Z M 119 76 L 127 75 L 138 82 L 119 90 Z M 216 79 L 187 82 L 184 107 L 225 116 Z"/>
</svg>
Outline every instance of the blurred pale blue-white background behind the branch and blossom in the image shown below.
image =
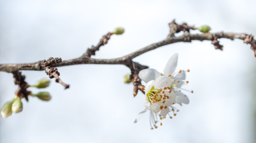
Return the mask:
<svg viewBox="0 0 256 143">
<path fill-rule="evenodd" d="M 116 58 L 168 35 L 176 18 L 195 26 L 209 24 L 212 32 L 256 35 L 254 0 L 237 1 L 0 1 L 0 63 L 28 63 L 49 57 L 79 57 L 101 36 L 122 26 L 95 58 Z M 122 82 L 125 66 L 59 67 L 61 79 L 43 90 L 50 102 L 29 98 L 23 111 L 0 118 L 0 142 L 256 142 L 256 60 L 249 45 L 221 39 L 224 50 L 210 41 L 174 43 L 134 59 L 159 71 L 179 54 L 177 69 L 190 69 L 189 105 L 163 126 L 150 130 L 149 113 L 134 124 L 144 109 L 143 94 L 132 97 L 132 85 Z M 30 84 L 44 71 L 22 71 Z M 10 73 L 0 72 L 0 105 L 11 100 L 17 86 Z"/>
</svg>

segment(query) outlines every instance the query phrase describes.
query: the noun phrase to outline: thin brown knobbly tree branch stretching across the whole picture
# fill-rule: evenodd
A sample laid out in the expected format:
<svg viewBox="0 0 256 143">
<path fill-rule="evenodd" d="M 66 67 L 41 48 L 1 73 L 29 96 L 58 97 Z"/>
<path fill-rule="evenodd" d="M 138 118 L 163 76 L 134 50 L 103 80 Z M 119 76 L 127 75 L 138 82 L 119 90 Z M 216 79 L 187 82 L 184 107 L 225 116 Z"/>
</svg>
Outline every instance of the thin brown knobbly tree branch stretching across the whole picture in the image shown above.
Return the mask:
<svg viewBox="0 0 256 143">
<path fill-rule="evenodd" d="M 138 57 L 145 52 L 152 51 L 153 49 L 159 48 L 164 45 L 168 45 L 176 42 L 191 42 L 191 41 L 212 41 L 212 44 L 216 49 L 222 49 L 223 46 L 219 44 L 218 39 L 240 39 L 243 42 L 250 44 L 251 49 L 254 51 L 254 55 L 256 57 L 256 41 L 252 35 L 247 35 L 245 33 L 201 33 L 201 34 L 191 34 L 190 30 L 195 30 L 194 26 L 188 26 L 186 23 L 182 23 L 181 25 L 175 23 L 173 20 L 169 23 L 170 33 L 166 39 L 153 43 L 151 45 L 145 46 L 144 48 L 138 49 L 137 51 L 132 52 L 131 54 L 124 55 L 119 58 L 111 58 L 111 59 L 97 59 L 91 58 L 91 55 L 95 55 L 95 52 L 100 49 L 101 46 L 105 45 L 110 36 L 113 33 L 109 32 L 103 36 L 97 46 L 92 46 L 88 48 L 85 54 L 81 57 L 74 58 L 71 60 L 62 61 L 61 58 L 49 58 L 47 61 L 37 61 L 35 63 L 25 63 L 25 64 L 0 64 L 0 71 L 5 71 L 7 73 L 16 73 L 19 70 L 45 70 L 47 74 L 49 74 L 50 78 L 55 77 L 56 82 L 61 83 L 66 88 L 69 85 L 62 82 L 59 79 L 59 72 L 56 67 L 62 66 L 71 66 L 76 64 L 122 64 L 131 69 L 131 77 L 130 79 L 134 83 L 134 96 L 137 95 L 138 90 L 144 92 L 144 86 L 141 85 L 141 80 L 138 78 L 138 72 L 140 70 L 148 68 L 147 66 L 143 66 L 139 63 L 135 63 L 132 61 L 135 57 Z M 176 37 L 174 34 L 184 32 L 182 36 Z"/>
</svg>

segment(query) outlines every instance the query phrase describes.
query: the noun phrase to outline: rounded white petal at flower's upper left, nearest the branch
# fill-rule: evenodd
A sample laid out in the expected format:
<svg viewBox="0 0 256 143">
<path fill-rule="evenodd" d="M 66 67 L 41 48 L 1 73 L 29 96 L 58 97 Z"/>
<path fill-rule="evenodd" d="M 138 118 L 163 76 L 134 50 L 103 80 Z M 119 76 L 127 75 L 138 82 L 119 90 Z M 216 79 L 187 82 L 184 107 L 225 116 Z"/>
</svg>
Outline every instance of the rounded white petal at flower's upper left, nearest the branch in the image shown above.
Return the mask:
<svg viewBox="0 0 256 143">
<path fill-rule="evenodd" d="M 161 73 L 155 69 L 144 69 L 138 73 L 138 77 L 146 83 L 150 80 L 155 80 L 159 76 L 161 76 Z"/>
</svg>

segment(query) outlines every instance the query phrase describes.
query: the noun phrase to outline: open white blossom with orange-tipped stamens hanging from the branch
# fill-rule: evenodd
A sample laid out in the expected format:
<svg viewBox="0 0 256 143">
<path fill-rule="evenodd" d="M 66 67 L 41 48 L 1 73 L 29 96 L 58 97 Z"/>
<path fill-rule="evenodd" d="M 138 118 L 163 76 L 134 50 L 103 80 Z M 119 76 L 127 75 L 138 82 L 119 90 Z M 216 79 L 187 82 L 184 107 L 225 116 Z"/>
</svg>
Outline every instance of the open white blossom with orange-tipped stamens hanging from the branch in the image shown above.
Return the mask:
<svg viewBox="0 0 256 143">
<path fill-rule="evenodd" d="M 173 104 L 189 104 L 188 97 L 180 92 L 180 87 L 188 83 L 185 81 L 186 74 L 184 70 L 174 73 L 177 66 L 177 54 L 174 54 L 167 62 L 164 68 L 164 74 L 155 69 L 144 69 L 138 73 L 141 80 L 147 83 L 145 88 L 144 106 L 145 110 L 141 111 L 134 123 L 146 112 L 150 111 L 150 126 L 157 128 L 156 123 L 164 119 L 165 116 L 171 116 L 179 111 L 173 107 Z M 189 71 L 189 70 L 187 70 Z M 152 126 L 153 125 L 153 126 Z M 162 125 L 162 123 L 160 123 Z"/>
</svg>

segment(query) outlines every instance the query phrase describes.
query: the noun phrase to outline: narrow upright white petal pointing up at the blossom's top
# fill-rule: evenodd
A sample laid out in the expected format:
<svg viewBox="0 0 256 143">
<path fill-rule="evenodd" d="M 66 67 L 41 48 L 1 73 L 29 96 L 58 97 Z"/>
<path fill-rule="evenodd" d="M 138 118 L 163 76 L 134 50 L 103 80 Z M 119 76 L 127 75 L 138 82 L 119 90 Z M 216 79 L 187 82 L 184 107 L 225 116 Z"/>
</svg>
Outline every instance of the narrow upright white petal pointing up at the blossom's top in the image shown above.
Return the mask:
<svg viewBox="0 0 256 143">
<path fill-rule="evenodd" d="M 171 58 L 168 60 L 166 66 L 164 67 L 164 75 L 172 74 L 174 73 L 176 67 L 177 67 L 177 60 L 178 60 L 178 54 L 174 54 L 171 56 Z"/>
</svg>

